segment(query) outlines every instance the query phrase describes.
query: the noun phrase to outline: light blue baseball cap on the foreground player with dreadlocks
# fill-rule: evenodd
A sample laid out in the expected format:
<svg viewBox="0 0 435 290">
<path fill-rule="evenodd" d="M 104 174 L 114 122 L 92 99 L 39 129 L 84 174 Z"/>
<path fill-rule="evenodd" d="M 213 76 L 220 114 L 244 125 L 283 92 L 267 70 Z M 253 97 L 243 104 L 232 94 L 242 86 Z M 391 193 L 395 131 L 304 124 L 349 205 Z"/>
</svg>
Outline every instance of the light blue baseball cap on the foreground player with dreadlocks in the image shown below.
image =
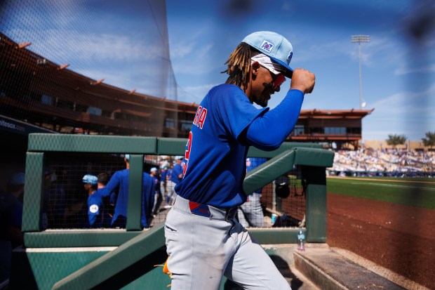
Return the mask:
<svg viewBox="0 0 435 290">
<path fill-rule="evenodd" d="M 276 32 L 259 31 L 249 34 L 242 42 L 249 44 L 283 67 L 286 67 L 286 77 L 291 79 L 293 69 L 290 67 L 290 61 L 293 57 L 293 46 L 285 37 Z"/>
</svg>

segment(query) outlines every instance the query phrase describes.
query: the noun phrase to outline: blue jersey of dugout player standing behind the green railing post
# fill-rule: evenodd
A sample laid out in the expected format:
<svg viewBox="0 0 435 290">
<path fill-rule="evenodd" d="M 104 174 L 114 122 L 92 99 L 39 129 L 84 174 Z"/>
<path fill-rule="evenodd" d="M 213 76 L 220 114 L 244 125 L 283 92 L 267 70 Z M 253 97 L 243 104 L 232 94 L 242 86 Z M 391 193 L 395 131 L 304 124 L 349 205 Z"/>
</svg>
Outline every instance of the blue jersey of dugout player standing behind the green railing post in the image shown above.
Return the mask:
<svg viewBox="0 0 435 290">
<path fill-rule="evenodd" d="M 128 206 L 128 174 L 129 169 L 116 171 L 106 187 L 102 188 L 102 196 L 108 197 L 112 192 L 116 192 L 116 204 L 112 225 L 120 216 L 127 217 Z M 151 216 L 152 206 L 154 204 L 154 179 L 148 173 L 142 176 L 142 227 L 149 227 L 147 217 Z"/>
</svg>

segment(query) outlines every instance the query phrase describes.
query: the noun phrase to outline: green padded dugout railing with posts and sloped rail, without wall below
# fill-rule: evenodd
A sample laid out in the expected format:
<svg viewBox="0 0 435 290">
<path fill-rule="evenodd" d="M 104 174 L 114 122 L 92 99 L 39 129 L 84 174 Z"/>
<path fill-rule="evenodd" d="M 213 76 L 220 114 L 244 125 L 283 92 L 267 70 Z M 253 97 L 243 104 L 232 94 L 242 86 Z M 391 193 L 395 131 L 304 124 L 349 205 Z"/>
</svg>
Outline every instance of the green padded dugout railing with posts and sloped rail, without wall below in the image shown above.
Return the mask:
<svg viewBox="0 0 435 290">
<path fill-rule="evenodd" d="M 52 273 L 54 276 L 49 278 L 51 281 L 46 282 L 46 284 L 52 285 L 52 289 L 91 289 L 98 285 L 101 286 L 103 282 L 107 282 L 114 275 L 119 275 L 132 264 L 152 255 L 165 245 L 163 225 L 156 226 L 151 230 L 141 230 L 140 228 L 141 203 L 138 192 L 141 192 L 142 187 L 143 158 L 145 154 L 184 155 L 186 142 L 186 139 L 178 138 L 78 136 L 43 133 L 29 135 L 22 222 L 25 247 L 90 248 L 116 246 L 116 249 L 108 251 L 91 263 L 77 266 L 77 270 L 70 271 L 67 275 L 65 272 L 58 273 L 58 275 Z M 42 180 L 46 152 L 112 154 L 129 152 L 131 154 L 131 186 L 128 192 L 126 230 L 42 231 Z M 333 152 L 322 150 L 320 145 L 312 143 L 284 143 L 273 152 L 263 152 L 251 148 L 248 157 L 272 159 L 250 171 L 243 187 L 247 193 L 254 192 L 257 188 L 267 185 L 272 180 L 292 170 L 293 166 L 302 166 L 304 176 L 307 178 L 307 241 L 326 242 L 325 167 L 332 166 L 333 156 Z M 262 244 L 288 244 L 295 243 L 297 240 L 297 230 L 294 228 L 261 228 L 249 231 Z M 98 250 L 95 249 L 95 251 Z M 27 255 L 32 256 L 29 253 Z M 32 261 L 34 263 L 34 265 L 31 263 L 32 269 L 44 267 L 44 265 L 37 265 L 38 259 Z M 148 263 L 152 263 L 152 261 Z"/>
</svg>

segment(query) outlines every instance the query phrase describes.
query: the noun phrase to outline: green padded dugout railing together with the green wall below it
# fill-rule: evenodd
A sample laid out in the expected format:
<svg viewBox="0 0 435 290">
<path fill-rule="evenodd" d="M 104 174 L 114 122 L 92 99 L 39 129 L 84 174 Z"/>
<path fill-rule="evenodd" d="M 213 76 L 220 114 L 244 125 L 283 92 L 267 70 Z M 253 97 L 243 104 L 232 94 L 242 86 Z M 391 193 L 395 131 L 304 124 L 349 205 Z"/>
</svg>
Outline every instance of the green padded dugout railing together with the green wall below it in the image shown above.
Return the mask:
<svg viewBox="0 0 435 290">
<path fill-rule="evenodd" d="M 170 283 L 161 268 L 166 259 L 163 223 L 140 226 L 140 192 L 145 154 L 184 155 L 185 139 L 125 136 L 30 134 L 26 159 L 22 232 L 25 244 L 14 251 L 11 289 L 135 289 L 139 285 Z M 45 155 L 51 152 L 131 154 L 128 218 L 125 229 L 44 230 Z M 310 143 L 284 143 L 278 150 L 251 148 L 248 157 L 268 158 L 250 171 L 243 183 L 247 193 L 300 167 L 307 180 L 307 242 L 326 242 L 326 167 L 333 152 Z M 261 244 L 295 244 L 297 228 L 250 228 Z M 22 275 L 29 279 L 22 279 Z"/>
</svg>

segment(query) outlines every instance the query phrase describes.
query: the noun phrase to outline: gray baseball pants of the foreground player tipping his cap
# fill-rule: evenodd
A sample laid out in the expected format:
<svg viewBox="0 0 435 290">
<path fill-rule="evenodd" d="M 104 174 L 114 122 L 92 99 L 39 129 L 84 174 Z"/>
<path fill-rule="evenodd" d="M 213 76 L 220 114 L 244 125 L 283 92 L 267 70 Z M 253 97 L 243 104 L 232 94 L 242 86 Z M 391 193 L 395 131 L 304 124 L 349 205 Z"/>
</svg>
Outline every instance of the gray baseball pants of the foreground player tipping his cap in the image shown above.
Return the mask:
<svg viewBox="0 0 435 290">
<path fill-rule="evenodd" d="M 262 246 L 226 211 L 178 196 L 165 223 L 172 290 L 218 290 L 222 276 L 247 290 L 291 290 Z"/>
</svg>

